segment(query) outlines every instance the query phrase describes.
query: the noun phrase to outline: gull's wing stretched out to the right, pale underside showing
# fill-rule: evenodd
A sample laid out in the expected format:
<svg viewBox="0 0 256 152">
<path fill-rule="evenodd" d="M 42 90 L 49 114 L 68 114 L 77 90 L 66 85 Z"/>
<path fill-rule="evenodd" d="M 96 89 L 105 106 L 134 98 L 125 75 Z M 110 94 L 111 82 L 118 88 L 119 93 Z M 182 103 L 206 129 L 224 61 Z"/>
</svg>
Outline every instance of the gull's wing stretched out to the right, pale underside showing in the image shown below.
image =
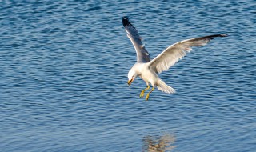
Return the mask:
<svg viewBox="0 0 256 152">
<path fill-rule="evenodd" d="M 177 42 L 174 45 L 169 46 L 156 58 L 154 58 L 149 64 L 150 69 L 160 74 L 162 71 L 168 70 L 171 66 L 174 66 L 179 59 L 182 59 L 188 52 L 192 50 L 193 46 L 205 46 L 211 39 L 215 37 L 226 37 L 227 34 L 215 34 L 201 38 L 192 38 Z"/>
</svg>

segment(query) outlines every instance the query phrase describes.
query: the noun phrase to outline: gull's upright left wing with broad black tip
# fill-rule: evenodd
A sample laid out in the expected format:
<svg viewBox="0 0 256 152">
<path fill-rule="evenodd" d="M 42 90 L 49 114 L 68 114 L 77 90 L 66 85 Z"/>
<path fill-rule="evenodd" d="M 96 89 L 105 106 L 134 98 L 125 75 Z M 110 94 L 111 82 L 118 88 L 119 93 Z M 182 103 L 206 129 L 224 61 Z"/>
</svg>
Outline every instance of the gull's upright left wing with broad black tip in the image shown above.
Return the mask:
<svg viewBox="0 0 256 152">
<path fill-rule="evenodd" d="M 129 22 L 128 18 L 122 18 L 122 25 L 126 29 L 127 37 L 133 43 L 137 53 L 137 62 L 150 62 L 150 54 L 146 51 L 145 46 L 142 44 L 142 38 L 138 35 L 138 31 Z"/>
</svg>

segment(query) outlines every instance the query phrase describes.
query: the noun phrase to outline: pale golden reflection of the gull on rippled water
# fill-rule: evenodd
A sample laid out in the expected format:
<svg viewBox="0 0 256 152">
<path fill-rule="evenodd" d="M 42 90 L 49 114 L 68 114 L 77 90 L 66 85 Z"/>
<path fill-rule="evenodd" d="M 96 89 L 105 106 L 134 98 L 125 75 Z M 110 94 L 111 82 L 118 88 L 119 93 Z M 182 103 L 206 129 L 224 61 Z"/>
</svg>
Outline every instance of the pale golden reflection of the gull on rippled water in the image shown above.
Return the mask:
<svg viewBox="0 0 256 152">
<path fill-rule="evenodd" d="M 163 134 L 162 136 L 146 136 L 143 138 L 143 150 L 149 152 L 164 152 L 173 150 L 175 137 L 170 134 Z"/>
</svg>

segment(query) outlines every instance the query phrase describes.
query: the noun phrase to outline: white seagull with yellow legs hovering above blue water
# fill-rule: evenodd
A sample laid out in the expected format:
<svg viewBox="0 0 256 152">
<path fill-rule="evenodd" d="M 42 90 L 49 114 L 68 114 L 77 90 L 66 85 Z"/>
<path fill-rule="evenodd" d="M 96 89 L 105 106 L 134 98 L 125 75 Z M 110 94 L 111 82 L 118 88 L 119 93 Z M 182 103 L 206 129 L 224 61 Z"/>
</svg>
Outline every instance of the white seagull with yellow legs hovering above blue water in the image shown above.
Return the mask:
<svg viewBox="0 0 256 152">
<path fill-rule="evenodd" d="M 193 46 L 205 46 L 211 39 L 215 37 L 227 37 L 227 34 L 214 34 L 200 38 L 191 38 L 183 40 L 181 42 L 176 42 L 170 45 L 166 50 L 158 54 L 154 59 L 150 59 L 150 54 L 145 49 L 142 44 L 142 38 L 139 36 L 136 28 L 130 23 L 129 19 L 126 17 L 122 18 L 122 25 L 126 30 L 127 37 L 134 45 L 134 49 L 137 54 L 137 62 L 132 66 L 128 73 L 128 85 L 134 81 L 135 78 L 140 77 L 146 82 L 146 89 L 142 90 L 139 95 L 140 98 L 144 96 L 144 92 L 150 89 L 150 84 L 152 89 L 148 94 L 146 94 L 146 100 L 149 99 L 150 94 L 154 91 L 154 87 L 158 90 L 165 92 L 167 94 L 175 93 L 175 90 L 166 85 L 158 74 L 163 71 L 168 70 L 171 66 L 174 66 L 178 60 L 182 59 L 187 53 L 190 53 Z"/>
</svg>

